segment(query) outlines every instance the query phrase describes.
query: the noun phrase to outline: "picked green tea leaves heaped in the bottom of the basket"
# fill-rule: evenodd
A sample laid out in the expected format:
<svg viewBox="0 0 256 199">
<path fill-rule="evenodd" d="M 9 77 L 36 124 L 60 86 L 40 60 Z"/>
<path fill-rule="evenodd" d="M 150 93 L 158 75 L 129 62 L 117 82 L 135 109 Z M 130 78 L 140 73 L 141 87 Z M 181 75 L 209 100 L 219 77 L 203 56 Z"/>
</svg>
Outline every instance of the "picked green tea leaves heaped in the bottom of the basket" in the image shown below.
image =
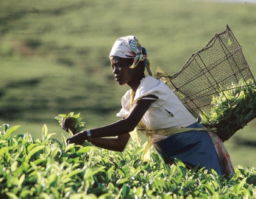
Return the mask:
<svg viewBox="0 0 256 199">
<path fill-rule="evenodd" d="M 221 140 L 228 140 L 256 117 L 256 85 L 252 79 L 241 79 L 213 96 L 212 104 L 210 112 L 200 114 L 202 123 L 207 128 L 216 128 Z"/>
</svg>

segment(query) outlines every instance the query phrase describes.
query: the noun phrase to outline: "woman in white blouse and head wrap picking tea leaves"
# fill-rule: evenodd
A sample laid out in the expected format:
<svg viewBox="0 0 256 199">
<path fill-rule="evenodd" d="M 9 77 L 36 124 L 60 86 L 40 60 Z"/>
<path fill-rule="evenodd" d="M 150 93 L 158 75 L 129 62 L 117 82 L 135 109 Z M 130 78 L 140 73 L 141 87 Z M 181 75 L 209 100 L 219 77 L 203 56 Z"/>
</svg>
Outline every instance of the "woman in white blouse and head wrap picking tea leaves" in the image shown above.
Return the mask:
<svg viewBox="0 0 256 199">
<path fill-rule="evenodd" d="M 130 135 L 136 140 L 138 126 L 168 164 L 177 158 L 190 167 L 214 169 L 219 175 L 233 173 L 230 156 L 220 138 L 202 129 L 202 124 L 196 122 L 169 87 L 152 77 L 147 55 L 146 48 L 141 47 L 135 36 L 115 41 L 110 51 L 115 81 L 130 87 L 121 99 L 122 109 L 117 114 L 123 119 L 81 131 L 67 142 L 82 145 L 89 140 L 100 148 L 124 151 Z M 149 76 L 145 76 L 145 68 Z M 64 121 L 63 129 L 69 126 L 70 120 Z"/>
</svg>

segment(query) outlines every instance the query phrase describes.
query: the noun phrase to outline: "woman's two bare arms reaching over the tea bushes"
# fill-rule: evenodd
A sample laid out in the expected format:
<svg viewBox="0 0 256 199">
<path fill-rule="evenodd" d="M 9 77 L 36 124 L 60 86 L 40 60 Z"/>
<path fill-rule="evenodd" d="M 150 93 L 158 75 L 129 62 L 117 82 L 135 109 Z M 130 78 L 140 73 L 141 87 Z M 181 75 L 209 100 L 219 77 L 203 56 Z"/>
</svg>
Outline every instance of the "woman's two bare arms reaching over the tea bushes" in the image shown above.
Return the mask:
<svg viewBox="0 0 256 199">
<path fill-rule="evenodd" d="M 147 109 L 149 109 L 153 101 L 155 100 L 152 100 L 152 99 L 139 100 L 137 104 L 132 106 L 132 109 L 129 112 L 128 117 L 126 117 L 125 119 L 118 120 L 117 122 L 107 126 L 102 126 L 96 129 L 90 129 L 90 134 L 92 138 L 92 140 L 90 141 L 93 143 L 93 140 L 97 138 L 96 140 L 98 141 L 95 140 L 94 142 L 95 145 L 98 145 L 99 147 L 101 145 L 102 147 L 104 146 L 104 148 L 108 148 L 108 149 L 114 147 L 114 149 L 111 149 L 114 151 L 116 147 L 116 145 L 114 146 L 113 144 L 114 142 L 119 142 L 118 143 L 119 146 L 117 148 L 125 148 L 125 145 L 127 145 L 127 142 L 129 140 L 127 139 L 128 136 L 123 136 L 121 138 L 119 137 L 121 135 L 129 134 L 130 131 L 133 131 L 135 129 L 135 127 L 138 125 L 141 118 L 143 117 Z M 118 137 L 99 139 L 100 137 L 115 137 L 115 136 L 118 136 Z M 69 137 L 67 139 L 67 142 L 82 145 L 82 143 L 85 142 L 85 140 L 88 140 L 87 131 L 81 131 L 78 134 L 75 134 L 73 137 Z M 122 142 L 120 142 L 120 140 L 122 140 Z"/>
</svg>

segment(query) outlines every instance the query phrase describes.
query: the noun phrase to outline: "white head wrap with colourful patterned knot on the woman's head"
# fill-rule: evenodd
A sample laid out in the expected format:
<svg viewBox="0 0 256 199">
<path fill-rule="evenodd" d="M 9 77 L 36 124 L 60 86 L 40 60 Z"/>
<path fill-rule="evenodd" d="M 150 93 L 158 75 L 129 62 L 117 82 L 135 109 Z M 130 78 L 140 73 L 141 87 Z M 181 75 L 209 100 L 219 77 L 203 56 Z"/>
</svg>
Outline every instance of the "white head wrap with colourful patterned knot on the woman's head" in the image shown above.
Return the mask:
<svg viewBox="0 0 256 199">
<path fill-rule="evenodd" d="M 127 37 L 118 38 L 110 51 L 110 57 L 111 56 L 133 58 L 133 63 L 130 68 L 135 68 L 138 65 L 138 62 L 144 61 L 146 70 L 149 75 L 152 76 L 148 51 L 138 43 L 138 37 L 136 36 L 129 35 Z"/>
</svg>

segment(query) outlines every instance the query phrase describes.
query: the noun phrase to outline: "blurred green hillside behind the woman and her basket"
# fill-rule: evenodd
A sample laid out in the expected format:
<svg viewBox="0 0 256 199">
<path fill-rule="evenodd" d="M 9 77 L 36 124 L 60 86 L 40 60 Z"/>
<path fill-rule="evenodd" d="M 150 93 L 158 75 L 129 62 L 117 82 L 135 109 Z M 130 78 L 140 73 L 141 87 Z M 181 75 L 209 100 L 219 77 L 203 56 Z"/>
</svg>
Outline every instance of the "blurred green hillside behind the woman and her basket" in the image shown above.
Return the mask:
<svg viewBox="0 0 256 199">
<path fill-rule="evenodd" d="M 88 128 L 112 123 L 128 89 L 115 83 L 108 55 L 136 35 L 153 67 L 177 73 L 228 24 L 256 75 L 256 4 L 185 0 L 0 0 L 0 124 L 40 137 L 43 123 L 81 112 Z M 225 142 L 235 165 L 255 166 L 256 121 Z M 64 132 L 65 134 L 65 132 Z"/>
</svg>

